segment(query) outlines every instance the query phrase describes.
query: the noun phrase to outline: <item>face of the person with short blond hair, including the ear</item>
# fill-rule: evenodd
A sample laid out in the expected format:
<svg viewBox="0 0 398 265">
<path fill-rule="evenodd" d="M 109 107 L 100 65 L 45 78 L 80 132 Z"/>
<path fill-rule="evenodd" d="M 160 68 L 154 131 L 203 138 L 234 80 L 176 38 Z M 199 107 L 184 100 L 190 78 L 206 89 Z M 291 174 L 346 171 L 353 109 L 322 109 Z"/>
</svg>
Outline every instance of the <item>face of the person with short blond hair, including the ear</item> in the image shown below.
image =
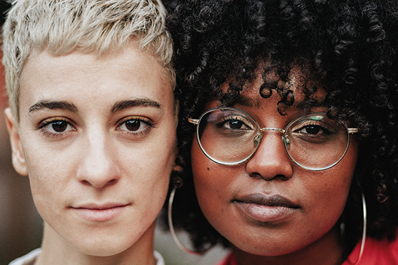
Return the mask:
<svg viewBox="0 0 398 265">
<path fill-rule="evenodd" d="M 132 44 L 34 54 L 19 107 L 19 124 L 6 112 L 13 164 L 52 242 L 97 256 L 151 244 L 176 155 L 174 96 L 156 58 Z"/>
</svg>

